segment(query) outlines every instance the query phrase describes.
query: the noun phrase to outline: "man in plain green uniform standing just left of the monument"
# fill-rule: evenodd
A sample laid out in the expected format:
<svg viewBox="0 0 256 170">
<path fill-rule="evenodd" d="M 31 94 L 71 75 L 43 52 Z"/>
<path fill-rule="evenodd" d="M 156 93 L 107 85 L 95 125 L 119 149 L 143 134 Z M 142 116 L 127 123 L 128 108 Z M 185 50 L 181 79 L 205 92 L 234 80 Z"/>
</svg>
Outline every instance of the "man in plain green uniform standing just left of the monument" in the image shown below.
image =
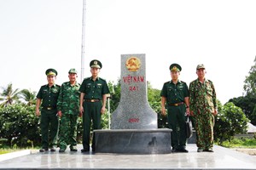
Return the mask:
<svg viewBox="0 0 256 170">
<path fill-rule="evenodd" d="M 93 129 L 101 129 L 102 114 L 106 111 L 107 95 L 109 94 L 107 82 L 98 77 L 102 69 L 102 63 L 93 59 L 90 61 L 91 77 L 84 78 L 79 89 L 80 112 L 83 114 L 83 149 L 82 152 L 90 151 L 90 125 L 92 120 Z M 95 137 L 93 136 L 92 151 L 95 151 Z"/>
</svg>

